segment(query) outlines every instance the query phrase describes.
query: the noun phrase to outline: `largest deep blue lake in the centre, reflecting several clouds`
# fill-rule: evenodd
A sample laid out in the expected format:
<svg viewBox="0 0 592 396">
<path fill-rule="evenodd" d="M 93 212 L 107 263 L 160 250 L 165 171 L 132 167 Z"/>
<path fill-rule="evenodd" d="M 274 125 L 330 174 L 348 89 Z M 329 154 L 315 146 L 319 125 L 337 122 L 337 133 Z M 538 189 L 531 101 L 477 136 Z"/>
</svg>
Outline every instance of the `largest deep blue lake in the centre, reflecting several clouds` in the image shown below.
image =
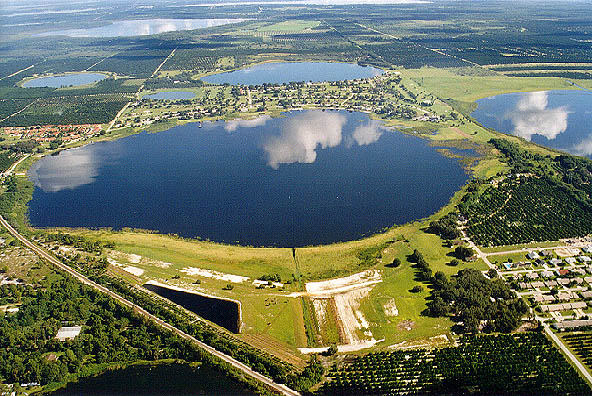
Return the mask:
<svg viewBox="0 0 592 396">
<path fill-rule="evenodd" d="M 254 246 L 352 240 L 426 217 L 467 180 L 458 160 L 366 114 L 206 122 L 46 156 L 37 227 L 136 227 Z"/>
</svg>

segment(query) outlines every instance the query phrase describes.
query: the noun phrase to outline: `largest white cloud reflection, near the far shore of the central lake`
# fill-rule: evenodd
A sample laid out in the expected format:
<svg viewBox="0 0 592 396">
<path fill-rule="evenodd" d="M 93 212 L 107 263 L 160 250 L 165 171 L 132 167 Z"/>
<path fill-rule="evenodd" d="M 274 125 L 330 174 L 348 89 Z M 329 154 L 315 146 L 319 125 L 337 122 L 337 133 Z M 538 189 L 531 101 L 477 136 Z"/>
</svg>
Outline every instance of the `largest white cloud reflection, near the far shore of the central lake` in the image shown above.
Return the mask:
<svg viewBox="0 0 592 396">
<path fill-rule="evenodd" d="M 292 116 L 281 127 L 281 134 L 269 136 L 263 144 L 267 164 L 311 164 L 317 159 L 318 147 L 336 147 L 342 140 L 347 118 L 338 113 L 310 112 Z"/>
</svg>

